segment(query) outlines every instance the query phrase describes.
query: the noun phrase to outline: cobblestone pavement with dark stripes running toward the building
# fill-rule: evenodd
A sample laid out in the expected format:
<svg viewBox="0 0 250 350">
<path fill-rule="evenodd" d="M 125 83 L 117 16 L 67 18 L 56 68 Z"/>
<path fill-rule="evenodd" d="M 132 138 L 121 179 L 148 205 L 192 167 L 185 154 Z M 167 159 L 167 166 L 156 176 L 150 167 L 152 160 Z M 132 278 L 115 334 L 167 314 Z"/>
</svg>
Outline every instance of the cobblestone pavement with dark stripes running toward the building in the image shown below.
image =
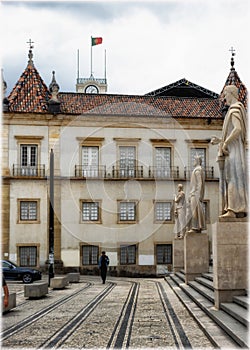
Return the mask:
<svg viewBox="0 0 250 350">
<path fill-rule="evenodd" d="M 47 276 L 43 277 L 47 281 Z M 2 348 L 214 349 L 162 278 L 81 276 L 40 299 L 8 282 L 17 307 L 2 317 Z"/>
</svg>

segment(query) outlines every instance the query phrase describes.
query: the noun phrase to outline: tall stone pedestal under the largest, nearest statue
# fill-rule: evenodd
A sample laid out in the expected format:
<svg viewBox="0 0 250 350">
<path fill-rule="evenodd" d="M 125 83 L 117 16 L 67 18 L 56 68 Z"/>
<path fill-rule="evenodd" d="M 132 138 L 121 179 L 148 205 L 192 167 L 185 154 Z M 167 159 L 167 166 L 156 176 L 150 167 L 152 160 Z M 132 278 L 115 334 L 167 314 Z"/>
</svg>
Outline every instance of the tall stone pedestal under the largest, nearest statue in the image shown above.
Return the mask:
<svg viewBox="0 0 250 350">
<path fill-rule="evenodd" d="M 245 295 L 248 288 L 248 234 L 245 219 L 225 218 L 213 225 L 215 307 Z"/>
</svg>

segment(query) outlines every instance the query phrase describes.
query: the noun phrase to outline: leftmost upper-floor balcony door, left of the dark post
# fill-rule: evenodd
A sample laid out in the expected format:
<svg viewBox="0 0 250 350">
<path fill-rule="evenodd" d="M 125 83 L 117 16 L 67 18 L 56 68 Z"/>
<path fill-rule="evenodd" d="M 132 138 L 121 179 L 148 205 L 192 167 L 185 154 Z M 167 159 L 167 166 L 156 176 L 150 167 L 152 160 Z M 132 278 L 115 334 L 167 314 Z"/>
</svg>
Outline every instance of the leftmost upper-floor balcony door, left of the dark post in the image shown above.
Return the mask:
<svg viewBox="0 0 250 350">
<path fill-rule="evenodd" d="M 21 145 L 20 148 L 21 175 L 36 176 L 37 175 L 37 145 Z"/>
</svg>

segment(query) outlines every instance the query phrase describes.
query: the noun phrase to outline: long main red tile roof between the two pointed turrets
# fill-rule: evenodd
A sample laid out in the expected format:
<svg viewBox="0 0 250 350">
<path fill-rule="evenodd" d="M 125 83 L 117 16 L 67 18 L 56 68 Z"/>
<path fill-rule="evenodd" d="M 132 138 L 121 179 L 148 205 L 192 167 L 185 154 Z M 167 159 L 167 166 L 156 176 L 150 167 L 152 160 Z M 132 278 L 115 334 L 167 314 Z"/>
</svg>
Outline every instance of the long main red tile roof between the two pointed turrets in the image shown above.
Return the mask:
<svg viewBox="0 0 250 350">
<path fill-rule="evenodd" d="M 61 112 L 128 116 L 220 118 L 217 99 L 60 93 Z"/>
</svg>

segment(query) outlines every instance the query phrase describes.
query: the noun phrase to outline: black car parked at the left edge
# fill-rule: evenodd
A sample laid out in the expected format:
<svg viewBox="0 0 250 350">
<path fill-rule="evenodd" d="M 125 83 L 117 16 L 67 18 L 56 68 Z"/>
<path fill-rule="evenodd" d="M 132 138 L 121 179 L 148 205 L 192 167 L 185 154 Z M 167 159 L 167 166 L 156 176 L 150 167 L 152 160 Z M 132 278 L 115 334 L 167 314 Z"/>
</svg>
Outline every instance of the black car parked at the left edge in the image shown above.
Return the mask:
<svg viewBox="0 0 250 350">
<path fill-rule="evenodd" d="M 19 267 L 9 260 L 2 260 L 2 271 L 6 280 L 23 281 L 23 283 L 32 283 L 42 278 L 40 271 L 30 267 Z"/>
</svg>

